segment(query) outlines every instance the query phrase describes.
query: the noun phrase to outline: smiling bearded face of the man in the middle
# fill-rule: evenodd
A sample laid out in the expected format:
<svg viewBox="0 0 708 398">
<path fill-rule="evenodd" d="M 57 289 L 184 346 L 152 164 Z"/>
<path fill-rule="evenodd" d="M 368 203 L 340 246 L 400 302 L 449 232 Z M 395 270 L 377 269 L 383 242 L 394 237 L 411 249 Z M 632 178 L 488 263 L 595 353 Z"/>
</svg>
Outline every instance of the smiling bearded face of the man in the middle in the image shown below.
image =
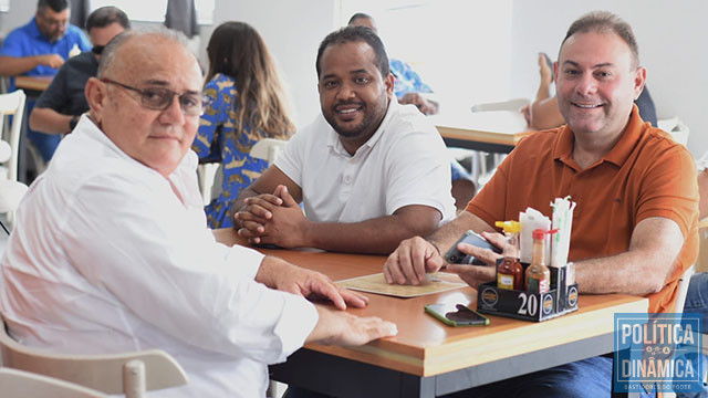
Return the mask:
<svg viewBox="0 0 708 398">
<path fill-rule="evenodd" d="M 363 41 L 332 44 L 322 53 L 322 114 L 345 144 L 364 144 L 386 116 L 394 78 L 383 78 L 374 61 L 374 50 Z"/>
</svg>

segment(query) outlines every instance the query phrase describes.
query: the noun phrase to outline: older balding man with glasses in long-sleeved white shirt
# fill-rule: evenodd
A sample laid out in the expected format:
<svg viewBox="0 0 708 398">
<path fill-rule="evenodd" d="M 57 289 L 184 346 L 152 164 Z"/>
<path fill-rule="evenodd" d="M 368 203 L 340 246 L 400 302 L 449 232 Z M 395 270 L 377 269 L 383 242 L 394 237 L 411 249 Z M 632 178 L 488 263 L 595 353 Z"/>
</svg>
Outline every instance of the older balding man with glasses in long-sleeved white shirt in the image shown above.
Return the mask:
<svg viewBox="0 0 708 398">
<path fill-rule="evenodd" d="M 267 365 L 304 343 L 365 344 L 396 329 L 308 302 L 366 304 L 322 274 L 215 241 L 189 150 L 200 87 L 180 34 L 132 32 L 105 49 L 86 84 L 90 113 L 18 211 L 0 310 L 27 345 L 165 349 L 190 381 L 155 396 L 263 397 Z"/>
</svg>

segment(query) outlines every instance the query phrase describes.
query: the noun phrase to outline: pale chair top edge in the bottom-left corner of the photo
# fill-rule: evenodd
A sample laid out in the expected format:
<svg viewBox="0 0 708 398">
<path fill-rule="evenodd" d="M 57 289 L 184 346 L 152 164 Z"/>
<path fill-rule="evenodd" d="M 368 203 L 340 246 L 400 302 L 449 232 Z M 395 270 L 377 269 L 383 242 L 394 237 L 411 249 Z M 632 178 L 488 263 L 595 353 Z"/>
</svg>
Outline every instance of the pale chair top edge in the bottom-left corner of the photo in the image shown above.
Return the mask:
<svg viewBox="0 0 708 398">
<path fill-rule="evenodd" d="M 108 398 L 107 395 L 73 383 L 0 367 L 0 388 L 8 398 Z"/>
</svg>

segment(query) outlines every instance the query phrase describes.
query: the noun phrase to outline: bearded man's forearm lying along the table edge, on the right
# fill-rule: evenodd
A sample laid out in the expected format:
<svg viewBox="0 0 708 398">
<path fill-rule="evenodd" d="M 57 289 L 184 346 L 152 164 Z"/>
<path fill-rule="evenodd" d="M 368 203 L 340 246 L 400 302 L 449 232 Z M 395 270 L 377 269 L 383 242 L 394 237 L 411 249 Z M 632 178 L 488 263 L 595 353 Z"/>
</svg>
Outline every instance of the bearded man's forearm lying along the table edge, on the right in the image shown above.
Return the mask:
<svg viewBox="0 0 708 398">
<path fill-rule="evenodd" d="M 389 254 L 400 241 L 430 233 L 439 222 L 412 220 L 399 214 L 379 217 L 362 222 L 308 222 L 303 247 L 326 251 Z"/>
</svg>

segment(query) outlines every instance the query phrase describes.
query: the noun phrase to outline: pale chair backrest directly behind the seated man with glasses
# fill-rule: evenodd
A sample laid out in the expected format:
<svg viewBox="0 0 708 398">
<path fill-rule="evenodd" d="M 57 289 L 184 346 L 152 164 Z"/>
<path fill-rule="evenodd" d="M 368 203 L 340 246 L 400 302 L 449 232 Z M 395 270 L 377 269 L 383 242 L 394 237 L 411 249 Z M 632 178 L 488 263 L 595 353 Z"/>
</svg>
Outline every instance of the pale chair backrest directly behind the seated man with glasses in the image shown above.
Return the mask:
<svg viewBox="0 0 708 398">
<path fill-rule="evenodd" d="M 105 394 L 144 397 L 146 390 L 187 384 L 187 375 L 177 362 L 160 349 L 105 355 L 56 354 L 15 342 L 0 327 L 3 366 L 27 370 Z M 146 377 L 148 375 L 149 377 Z"/>
</svg>

